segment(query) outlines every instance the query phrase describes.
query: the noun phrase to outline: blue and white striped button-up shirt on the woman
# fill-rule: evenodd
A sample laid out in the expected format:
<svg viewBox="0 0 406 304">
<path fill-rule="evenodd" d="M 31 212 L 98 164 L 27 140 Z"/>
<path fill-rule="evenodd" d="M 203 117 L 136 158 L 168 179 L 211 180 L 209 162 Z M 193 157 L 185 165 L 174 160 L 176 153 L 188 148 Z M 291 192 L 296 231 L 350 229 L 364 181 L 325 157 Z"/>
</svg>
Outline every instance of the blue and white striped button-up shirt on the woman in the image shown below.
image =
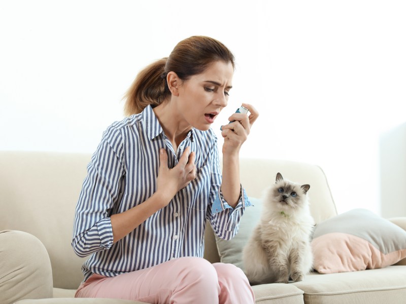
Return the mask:
<svg viewBox="0 0 406 304">
<path fill-rule="evenodd" d="M 172 201 L 135 230 L 113 244 L 112 214 L 142 204 L 156 191 L 159 149 L 168 154 L 168 167 L 178 164 L 184 149 L 196 153 L 196 178 Z M 223 239 L 239 228 L 247 194 L 235 208 L 220 191 L 217 137 L 211 129 L 192 129 L 174 151 L 151 106 L 112 124 L 87 166 L 88 174 L 76 206 L 72 246 L 79 256 L 91 256 L 82 270 L 113 277 L 182 256 L 204 253 L 206 220 Z"/>
</svg>

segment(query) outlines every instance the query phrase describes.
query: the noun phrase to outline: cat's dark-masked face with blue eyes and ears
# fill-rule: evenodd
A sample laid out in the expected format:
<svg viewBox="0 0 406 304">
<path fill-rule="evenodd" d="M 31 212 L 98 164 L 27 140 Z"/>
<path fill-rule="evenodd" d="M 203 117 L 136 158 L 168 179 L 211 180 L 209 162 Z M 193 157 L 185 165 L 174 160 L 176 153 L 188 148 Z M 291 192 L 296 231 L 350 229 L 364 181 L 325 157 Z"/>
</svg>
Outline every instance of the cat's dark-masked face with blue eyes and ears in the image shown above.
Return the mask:
<svg viewBox="0 0 406 304">
<path fill-rule="evenodd" d="M 276 182 L 272 186 L 270 195 L 273 203 L 282 209 L 297 209 L 307 204 L 307 192 L 310 185 L 300 185 L 283 179 L 281 173 L 277 174 Z"/>
</svg>

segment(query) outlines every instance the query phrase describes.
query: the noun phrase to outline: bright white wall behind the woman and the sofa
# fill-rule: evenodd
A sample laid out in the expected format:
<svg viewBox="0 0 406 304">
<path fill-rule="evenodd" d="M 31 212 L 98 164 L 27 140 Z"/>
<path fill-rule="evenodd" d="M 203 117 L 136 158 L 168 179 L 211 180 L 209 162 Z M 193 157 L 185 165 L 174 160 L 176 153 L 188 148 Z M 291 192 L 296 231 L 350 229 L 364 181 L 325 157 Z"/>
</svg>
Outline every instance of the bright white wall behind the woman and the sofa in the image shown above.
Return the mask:
<svg viewBox="0 0 406 304">
<path fill-rule="evenodd" d="M 406 121 L 403 1 L 2 1 L 0 149 L 92 153 L 137 72 L 194 34 L 235 54 L 242 157 L 320 165 L 337 209 L 380 212 L 379 137 Z M 270 181 L 272 182 L 272 181 Z"/>
</svg>

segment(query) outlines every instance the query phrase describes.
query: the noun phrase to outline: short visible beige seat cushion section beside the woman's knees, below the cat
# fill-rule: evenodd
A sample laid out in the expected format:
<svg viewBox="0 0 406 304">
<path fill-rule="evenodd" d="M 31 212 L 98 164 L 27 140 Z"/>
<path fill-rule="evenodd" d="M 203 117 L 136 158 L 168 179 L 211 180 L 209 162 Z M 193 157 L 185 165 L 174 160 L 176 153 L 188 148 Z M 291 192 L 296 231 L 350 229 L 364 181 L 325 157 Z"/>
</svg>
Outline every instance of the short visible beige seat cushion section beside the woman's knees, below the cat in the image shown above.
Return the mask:
<svg viewBox="0 0 406 304">
<path fill-rule="evenodd" d="M 303 304 L 303 291 L 292 284 L 262 284 L 252 286 L 255 303 Z"/>
</svg>

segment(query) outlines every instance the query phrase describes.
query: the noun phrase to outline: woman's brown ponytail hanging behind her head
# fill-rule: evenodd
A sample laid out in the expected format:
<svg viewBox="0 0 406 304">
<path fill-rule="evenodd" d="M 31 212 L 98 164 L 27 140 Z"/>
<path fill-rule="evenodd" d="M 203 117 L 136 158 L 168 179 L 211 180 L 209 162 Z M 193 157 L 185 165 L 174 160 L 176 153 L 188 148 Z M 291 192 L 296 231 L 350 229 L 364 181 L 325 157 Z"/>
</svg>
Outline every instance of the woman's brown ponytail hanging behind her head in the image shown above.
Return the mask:
<svg viewBox="0 0 406 304">
<path fill-rule="evenodd" d="M 167 58 L 159 59 L 141 70 L 127 93 L 124 104 L 124 114 L 141 113 L 149 104 L 158 105 L 166 96 L 170 95 L 166 79 L 161 75 L 164 72 Z"/>
</svg>

